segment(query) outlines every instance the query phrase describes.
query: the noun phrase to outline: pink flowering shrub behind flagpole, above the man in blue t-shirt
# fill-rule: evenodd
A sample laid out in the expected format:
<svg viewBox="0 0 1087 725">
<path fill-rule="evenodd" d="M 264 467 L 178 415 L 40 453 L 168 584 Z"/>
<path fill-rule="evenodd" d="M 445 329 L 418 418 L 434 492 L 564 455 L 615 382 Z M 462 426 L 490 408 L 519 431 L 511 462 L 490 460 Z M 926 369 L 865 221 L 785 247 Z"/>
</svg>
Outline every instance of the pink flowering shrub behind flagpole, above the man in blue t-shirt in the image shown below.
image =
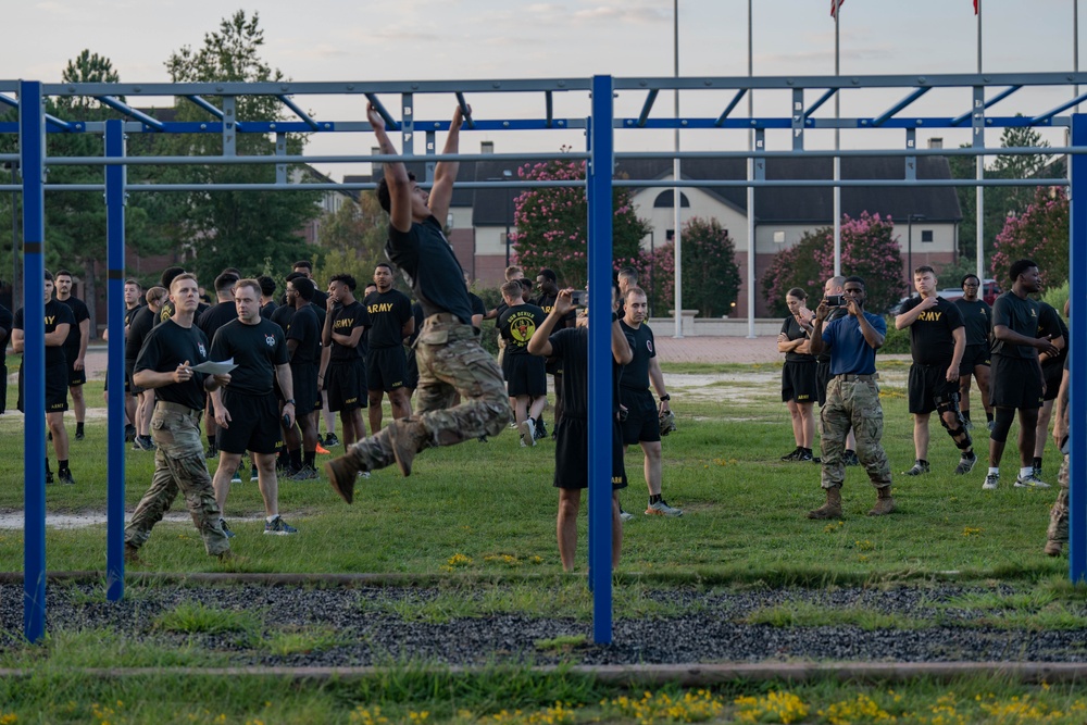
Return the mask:
<svg viewBox="0 0 1087 725">
<path fill-rule="evenodd" d="M 864 277 L 869 312 L 883 312 L 905 295 L 902 255 L 889 216 L 862 212 L 841 217 L 841 273 Z M 834 275 L 834 227 L 808 232 L 796 246 L 774 255 L 762 277 L 762 292 L 774 316 L 788 314 L 785 292 L 800 287 L 809 304 L 823 297 L 823 284 Z"/>
</svg>

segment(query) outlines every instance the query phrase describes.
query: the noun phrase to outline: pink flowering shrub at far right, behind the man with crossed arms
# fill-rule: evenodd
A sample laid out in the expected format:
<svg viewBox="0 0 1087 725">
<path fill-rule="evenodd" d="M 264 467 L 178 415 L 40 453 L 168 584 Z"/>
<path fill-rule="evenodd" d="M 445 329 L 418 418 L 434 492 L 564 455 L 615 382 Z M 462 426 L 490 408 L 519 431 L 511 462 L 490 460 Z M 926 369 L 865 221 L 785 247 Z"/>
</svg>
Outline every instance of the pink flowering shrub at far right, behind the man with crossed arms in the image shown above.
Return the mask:
<svg viewBox="0 0 1087 725">
<path fill-rule="evenodd" d="M 1011 289 L 1008 270 L 1016 260 L 1038 263 L 1046 288 L 1069 278 L 1069 196 L 1060 187 L 1038 187 L 1034 203 L 1004 220 L 992 253 L 992 278 Z"/>
</svg>

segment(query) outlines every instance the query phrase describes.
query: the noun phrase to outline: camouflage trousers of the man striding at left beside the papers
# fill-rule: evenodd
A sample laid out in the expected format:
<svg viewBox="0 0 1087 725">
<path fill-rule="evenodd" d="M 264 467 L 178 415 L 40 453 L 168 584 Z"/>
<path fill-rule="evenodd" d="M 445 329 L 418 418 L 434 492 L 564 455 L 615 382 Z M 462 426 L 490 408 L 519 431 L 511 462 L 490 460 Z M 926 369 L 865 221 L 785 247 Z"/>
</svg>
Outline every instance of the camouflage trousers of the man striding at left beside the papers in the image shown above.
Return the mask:
<svg viewBox="0 0 1087 725">
<path fill-rule="evenodd" d="M 192 515 L 209 555 L 230 550 L 220 525 L 220 510 L 204 463 L 200 438 L 201 411 L 159 401 L 151 417 L 154 440 L 154 476 L 151 487 L 140 499 L 132 521 L 125 527 L 125 541 L 136 548 L 143 546 L 151 529 L 170 511 L 178 491 Z"/>
</svg>

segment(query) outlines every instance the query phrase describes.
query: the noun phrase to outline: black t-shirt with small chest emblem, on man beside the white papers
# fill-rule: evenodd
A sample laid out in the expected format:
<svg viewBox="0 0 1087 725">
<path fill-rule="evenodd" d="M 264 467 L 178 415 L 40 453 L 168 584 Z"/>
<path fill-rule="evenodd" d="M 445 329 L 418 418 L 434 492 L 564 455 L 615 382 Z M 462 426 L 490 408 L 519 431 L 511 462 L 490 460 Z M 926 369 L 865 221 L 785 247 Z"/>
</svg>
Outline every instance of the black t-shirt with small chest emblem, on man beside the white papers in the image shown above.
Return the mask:
<svg viewBox="0 0 1087 725">
<path fill-rule="evenodd" d="M 230 372 L 230 392 L 271 395 L 275 366 L 286 365 L 288 359 L 283 328 L 263 317 L 255 325 L 247 325 L 240 320 L 226 323 L 212 340 L 211 359 L 230 358 L 237 365 Z"/>
</svg>

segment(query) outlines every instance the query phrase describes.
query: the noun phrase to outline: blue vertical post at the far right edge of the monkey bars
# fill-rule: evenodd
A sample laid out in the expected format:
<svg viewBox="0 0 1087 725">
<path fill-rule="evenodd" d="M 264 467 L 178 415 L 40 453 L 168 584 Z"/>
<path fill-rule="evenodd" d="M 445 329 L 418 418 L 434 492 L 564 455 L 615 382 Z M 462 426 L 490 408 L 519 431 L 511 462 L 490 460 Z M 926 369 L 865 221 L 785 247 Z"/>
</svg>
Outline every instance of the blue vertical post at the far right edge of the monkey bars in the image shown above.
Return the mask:
<svg viewBox="0 0 1087 725">
<path fill-rule="evenodd" d="M 1087 115 L 1072 115 L 1072 146 L 1087 147 Z M 1072 238 L 1069 240 L 1071 267 L 1069 299 L 1072 300 L 1072 320 L 1069 326 L 1069 576 L 1083 582 L 1087 576 L 1087 425 L 1075 411 L 1084 410 L 1084 391 L 1087 389 L 1087 155 L 1072 154 Z"/>
</svg>

